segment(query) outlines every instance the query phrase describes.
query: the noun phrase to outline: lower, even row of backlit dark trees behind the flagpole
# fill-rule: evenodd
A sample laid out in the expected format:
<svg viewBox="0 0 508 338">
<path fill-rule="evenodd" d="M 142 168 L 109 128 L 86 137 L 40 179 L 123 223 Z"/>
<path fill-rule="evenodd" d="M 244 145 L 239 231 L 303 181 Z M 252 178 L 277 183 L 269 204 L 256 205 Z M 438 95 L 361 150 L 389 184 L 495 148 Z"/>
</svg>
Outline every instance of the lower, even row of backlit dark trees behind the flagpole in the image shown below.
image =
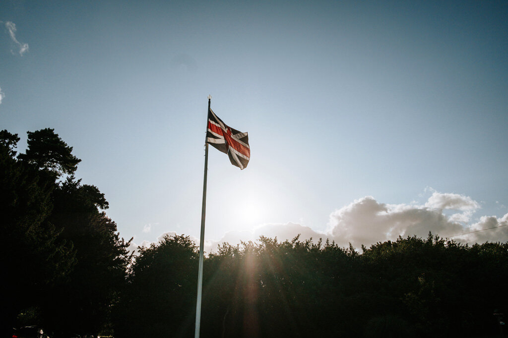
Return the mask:
<svg viewBox="0 0 508 338">
<path fill-rule="evenodd" d="M 193 336 L 196 255 L 183 236 L 141 248 L 119 336 Z M 361 254 L 298 237 L 226 243 L 205 259 L 201 336 L 497 336 L 507 263 L 507 244 L 431 234 Z"/>
</svg>

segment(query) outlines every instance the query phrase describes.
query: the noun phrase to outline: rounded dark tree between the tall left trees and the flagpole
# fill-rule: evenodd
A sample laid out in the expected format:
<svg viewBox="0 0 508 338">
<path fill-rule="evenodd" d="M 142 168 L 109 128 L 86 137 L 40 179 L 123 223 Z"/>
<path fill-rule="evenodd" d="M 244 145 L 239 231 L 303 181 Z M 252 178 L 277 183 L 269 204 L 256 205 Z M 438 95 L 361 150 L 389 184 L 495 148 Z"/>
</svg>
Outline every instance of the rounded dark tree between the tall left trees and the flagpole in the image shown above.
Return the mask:
<svg viewBox="0 0 508 338">
<path fill-rule="evenodd" d="M 166 235 L 139 247 L 129 284 L 115 308 L 115 335 L 190 336 L 194 333 L 198 248 L 188 236 Z"/>
</svg>

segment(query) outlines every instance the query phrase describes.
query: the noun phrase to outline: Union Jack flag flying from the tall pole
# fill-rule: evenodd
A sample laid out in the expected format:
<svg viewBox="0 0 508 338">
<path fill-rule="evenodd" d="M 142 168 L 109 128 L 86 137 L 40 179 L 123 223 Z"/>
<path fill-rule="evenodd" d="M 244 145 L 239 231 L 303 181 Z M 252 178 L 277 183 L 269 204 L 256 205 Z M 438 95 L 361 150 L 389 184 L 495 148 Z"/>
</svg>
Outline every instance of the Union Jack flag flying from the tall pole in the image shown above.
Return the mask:
<svg viewBox="0 0 508 338">
<path fill-rule="evenodd" d="M 247 133 L 228 127 L 211 109 L 208 109 L 206 143 L 228 154 L 231 164 L 240 169 L 247 166 L 250 159 Z"/>
</svg>

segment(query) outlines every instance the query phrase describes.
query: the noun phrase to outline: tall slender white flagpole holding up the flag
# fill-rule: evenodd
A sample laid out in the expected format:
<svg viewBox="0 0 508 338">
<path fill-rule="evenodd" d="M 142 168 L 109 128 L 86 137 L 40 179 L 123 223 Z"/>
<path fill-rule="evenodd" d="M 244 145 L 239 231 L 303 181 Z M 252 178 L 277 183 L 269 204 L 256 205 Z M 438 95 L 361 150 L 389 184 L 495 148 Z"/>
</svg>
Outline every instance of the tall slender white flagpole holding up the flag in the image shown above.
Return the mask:
<svg viewBox="0 0 508 338">
<path fill-rule="evenodd" d="M 212 96 L 208 95 L 208 111 L 210 111 L 210 100 Z M 208 128 L 208 111 L 206 112 L 206 125 Z M 201 207 L 201 238 L 199 241 L 199 273 L 198 273 L 198 297 L 196 301 L 196 326 L 194 337 L 199 338 L 199 329 L 201 325 L 201 294 L 203 289 L 203 246 L 205 244 L 205 214 L 206 214 L 206 172 L 208 170 L 208 143 L 205 138 L 205 174 L 203 178 L 203 206 Z"/>
</svg>

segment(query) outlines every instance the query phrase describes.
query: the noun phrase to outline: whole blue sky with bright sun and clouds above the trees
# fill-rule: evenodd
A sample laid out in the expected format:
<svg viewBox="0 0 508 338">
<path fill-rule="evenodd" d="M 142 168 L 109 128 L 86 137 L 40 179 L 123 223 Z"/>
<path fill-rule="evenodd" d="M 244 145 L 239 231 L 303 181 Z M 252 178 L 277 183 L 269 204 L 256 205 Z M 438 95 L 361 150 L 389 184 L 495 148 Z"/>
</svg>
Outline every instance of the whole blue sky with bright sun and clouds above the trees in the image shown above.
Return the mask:
<svg viewBox="0 0 508 338">
<path fill-rule="evenodd" d="M 0 128 L 50 127 L 133 247 L 508 241 L 505 1 L 0 2 Z M 491 227 L 491 230 L 473 232 Z"/>
</svg>

